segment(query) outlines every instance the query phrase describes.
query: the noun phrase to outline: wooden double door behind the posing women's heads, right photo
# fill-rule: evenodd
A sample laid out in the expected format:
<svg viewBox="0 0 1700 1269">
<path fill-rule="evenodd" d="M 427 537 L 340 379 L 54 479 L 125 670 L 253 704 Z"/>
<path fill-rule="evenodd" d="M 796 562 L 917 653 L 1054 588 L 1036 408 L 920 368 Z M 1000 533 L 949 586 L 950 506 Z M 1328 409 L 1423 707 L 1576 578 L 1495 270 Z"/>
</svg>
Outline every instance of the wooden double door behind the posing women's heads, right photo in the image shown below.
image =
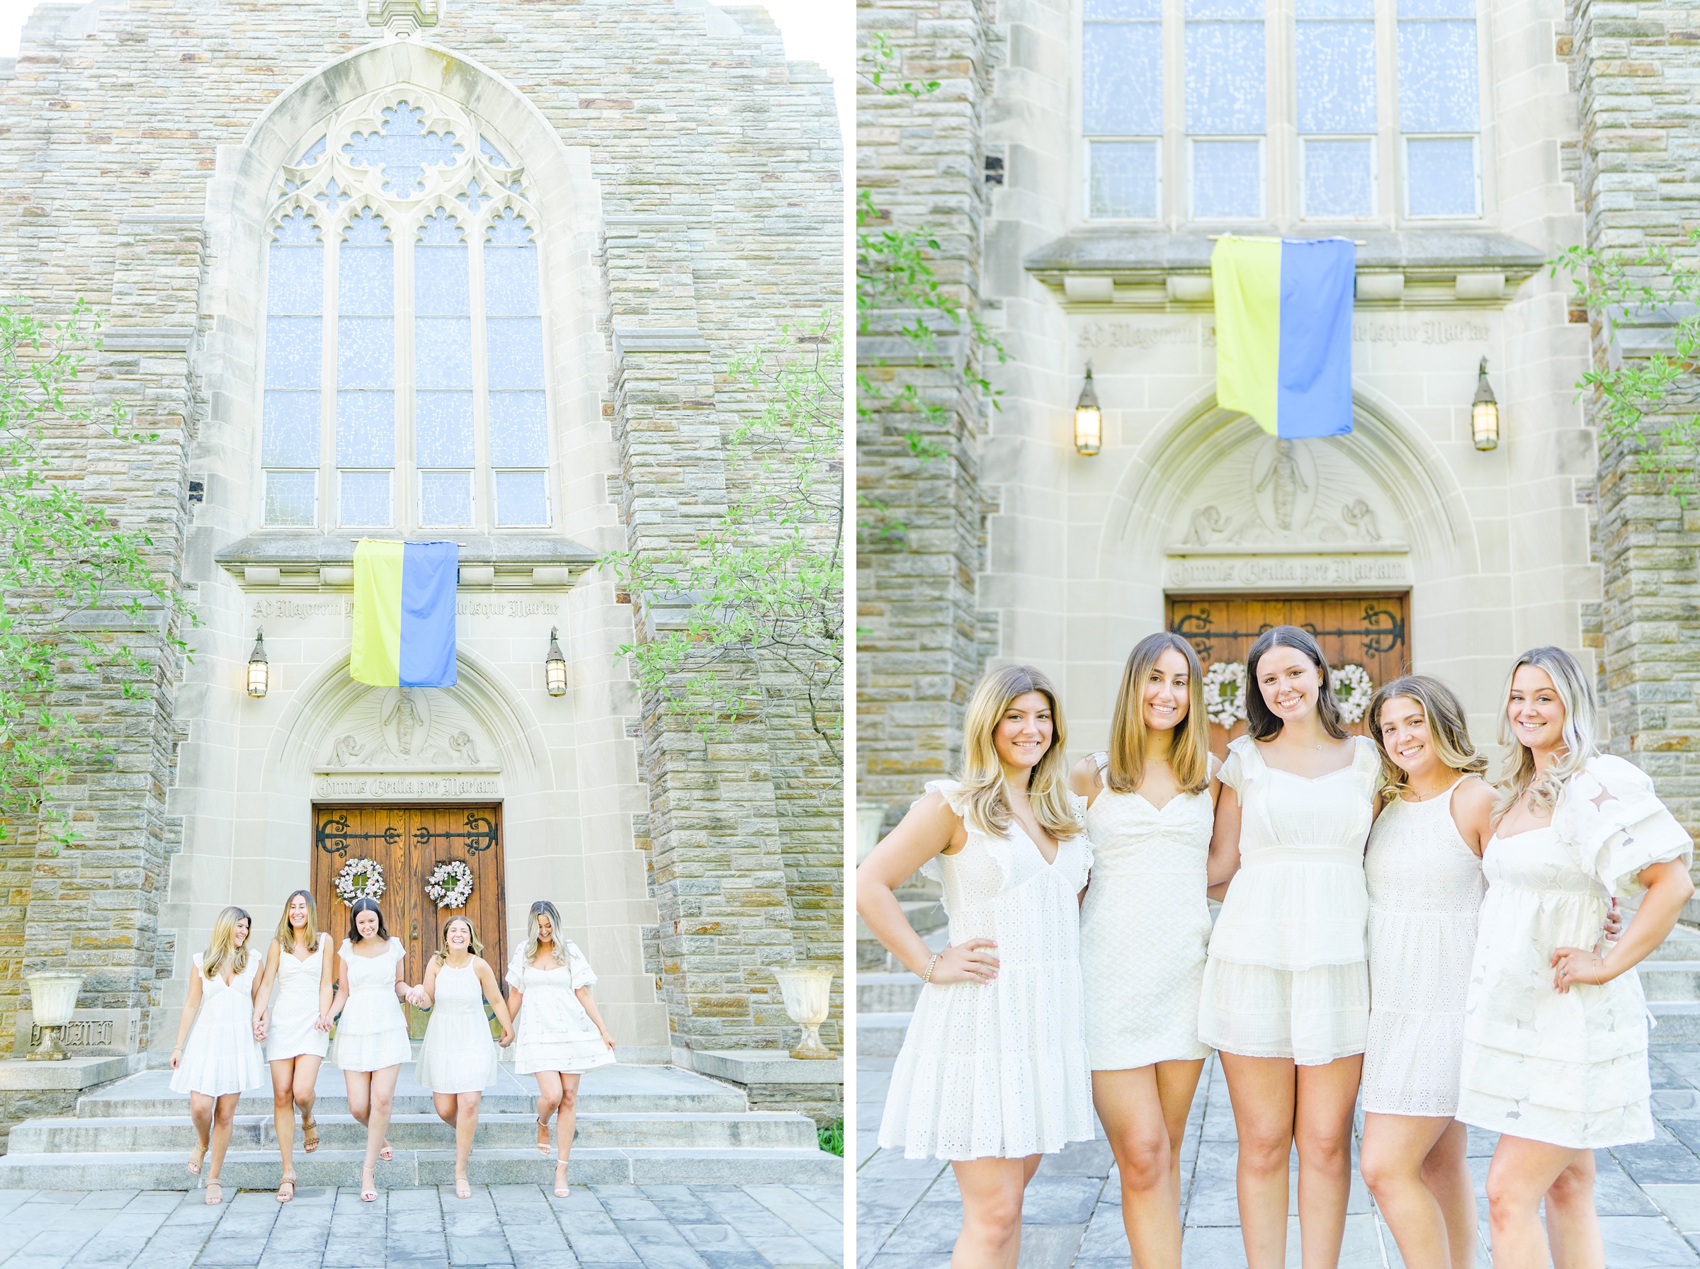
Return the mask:
<svg viewBox="0 0 1700 1269">
<path fill-rule="evenodd" d="M 1256 637 L 1275 625 L 1297 625 L 1316 635 L 1329 666 L 1363 666 L 1374 686 L 1411 669 L 1409 595 L 1171 595 L 1168 629 L 1185 637 L 1205 671 L 1216 661 L 1244 663 Z M 1248 691 L 1255 691 L 1251 685 Z M 1352 730 L 1367 736 L 1365 715 Z M 1227 754 L 1227 742 L 1246 734 L 1210 724 L 1210 749 Z"/>
</svg>

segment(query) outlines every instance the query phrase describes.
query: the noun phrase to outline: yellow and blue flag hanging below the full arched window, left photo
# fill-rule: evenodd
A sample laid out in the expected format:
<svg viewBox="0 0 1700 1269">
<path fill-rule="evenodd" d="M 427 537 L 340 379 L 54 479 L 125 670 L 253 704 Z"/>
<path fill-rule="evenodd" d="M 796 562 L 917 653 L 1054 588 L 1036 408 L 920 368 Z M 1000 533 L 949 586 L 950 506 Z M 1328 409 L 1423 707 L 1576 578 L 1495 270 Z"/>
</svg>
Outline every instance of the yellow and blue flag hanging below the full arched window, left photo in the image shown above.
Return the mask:
<svg viewBox="0 0 1700 1269">
<path fill-rule="evenodd" d="M 376 688 L 452 688 L 454 542 L 354 545 L 354 656 L 348 674 Z"/>
</svg>

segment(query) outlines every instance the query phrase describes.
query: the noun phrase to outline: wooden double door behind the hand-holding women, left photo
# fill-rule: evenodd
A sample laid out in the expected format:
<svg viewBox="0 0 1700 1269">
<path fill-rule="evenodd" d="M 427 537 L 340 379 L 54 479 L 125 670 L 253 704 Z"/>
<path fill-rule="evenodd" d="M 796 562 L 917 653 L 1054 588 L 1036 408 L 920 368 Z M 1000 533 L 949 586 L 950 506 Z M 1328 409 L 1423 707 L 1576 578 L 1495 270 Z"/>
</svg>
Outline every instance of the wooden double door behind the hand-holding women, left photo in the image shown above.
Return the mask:
<svg viewBox="0 0 1700 1269">
<path fill-rule="evenodd" d="M 384 926 L 406 948 L 408 982 L 425 980 L 425 963 L 437 951 L 450 916 L 468 916 L 484 945 L 483 956 L 507 972 L 503 916 L 502 807 L 496 805 L 333 805 L 313 807 L 313 900 L 320 922 L 337 946 L 348 934 L 348 905 L 337 895 L 337 873 L 350 860 L 382 868 L 377 905 Z M 461 860 L 473 870 L 473 894 L 464 907 L 437 907 L 425 880 L 439 863 Z M 423 1035 L 425 1014 L 408 1007 L 413 1036 Z"/>
</svg>

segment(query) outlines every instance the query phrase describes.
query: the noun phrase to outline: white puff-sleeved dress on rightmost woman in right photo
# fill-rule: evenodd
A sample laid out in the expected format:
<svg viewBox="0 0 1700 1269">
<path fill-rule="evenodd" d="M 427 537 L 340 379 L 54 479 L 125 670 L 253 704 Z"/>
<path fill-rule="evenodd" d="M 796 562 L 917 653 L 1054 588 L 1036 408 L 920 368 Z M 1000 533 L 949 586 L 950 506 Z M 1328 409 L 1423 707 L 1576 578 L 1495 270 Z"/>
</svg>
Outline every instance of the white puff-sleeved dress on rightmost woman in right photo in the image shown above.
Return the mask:
<svg viewBox="0 0 1700 1269">
<path fill-rule="evenodd" d="M 1692 863 L 1693 843 L 1652 780 L 1612 756 L 1566 781 L 1547 827 L 1488 843 L 1459 1120 L 1572 1150 L 1652 1138 L 1639 977 L 1561 994 L 1550 962 L 1593 948 L 1610 897 L 1640 894 L 1635 873 L 1668 860 Z"/>
</svg>

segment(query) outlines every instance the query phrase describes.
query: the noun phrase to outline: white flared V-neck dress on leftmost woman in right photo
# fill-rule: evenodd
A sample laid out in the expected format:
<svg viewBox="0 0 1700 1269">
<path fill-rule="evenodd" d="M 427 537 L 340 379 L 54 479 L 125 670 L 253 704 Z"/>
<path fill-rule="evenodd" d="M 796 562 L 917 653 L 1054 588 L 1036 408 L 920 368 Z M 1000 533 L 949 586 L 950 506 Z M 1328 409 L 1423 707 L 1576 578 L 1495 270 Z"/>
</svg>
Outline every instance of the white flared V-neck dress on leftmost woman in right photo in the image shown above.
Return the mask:
<svg viewBox="0 0 1700 1269">
<path fill-rule="evenodd" d="M 957 815 L 955 780 L 935 780 Z M 1069 795 L 1074 812 L 1085 798 Z M 1083 836 L 1052 863 L 1012 822 L 1003 838 L 969 826 L 967 844 L 921 870 L 944 885 L 950 943 L 996 941 L 989 984 L 921 987 L 903 1038 L 879 1143 L 906 1159 L 1023 1159 L 1093 1135 L 1081 1016 L 1080 905 L 1091 870 Z"/>
</svg>

